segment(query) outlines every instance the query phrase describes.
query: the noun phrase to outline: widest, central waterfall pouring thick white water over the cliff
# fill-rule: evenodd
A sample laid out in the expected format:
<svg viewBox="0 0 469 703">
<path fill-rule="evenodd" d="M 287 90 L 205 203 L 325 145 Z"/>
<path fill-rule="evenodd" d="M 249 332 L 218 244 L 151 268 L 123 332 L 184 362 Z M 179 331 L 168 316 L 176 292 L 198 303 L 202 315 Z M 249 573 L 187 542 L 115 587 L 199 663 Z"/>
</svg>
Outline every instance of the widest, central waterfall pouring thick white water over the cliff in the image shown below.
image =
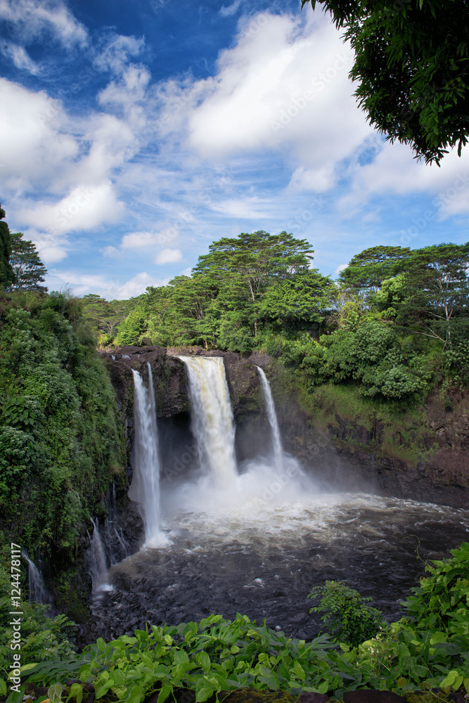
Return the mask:
<svg viewBox="0 0 469 703">
<path fill-rule="evenodd" d="M 192 431 L 200 466 L 215 484 L 228 488 L 238 475 L 235 426 L 221 356 L 179 356 L 188 370 Z"/>
</svg>

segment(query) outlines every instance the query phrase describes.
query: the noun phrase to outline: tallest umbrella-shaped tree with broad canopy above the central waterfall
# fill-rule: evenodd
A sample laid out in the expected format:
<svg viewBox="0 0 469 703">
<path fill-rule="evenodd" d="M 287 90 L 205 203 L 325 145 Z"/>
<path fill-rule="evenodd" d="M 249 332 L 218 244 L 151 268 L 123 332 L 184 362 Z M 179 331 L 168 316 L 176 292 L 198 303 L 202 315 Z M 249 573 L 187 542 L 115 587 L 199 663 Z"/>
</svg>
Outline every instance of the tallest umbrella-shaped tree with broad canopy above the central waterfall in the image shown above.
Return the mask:
<svg viewBox="0 0 469 703">
<path fill-rule="evenodd" d="M 306 273 L 314 250 L 307 240 L 295 239 L 291 233 L 273 235 L 258 231 L 241 233 L 233 239 L 224 237 L 211 244 L 209 252 L 199 257 L 193 273 L 210 275 L 214 280 L 241 280 L 255 303 L 266 283 Z M 257 336 L 257 318 L 254 336 Z"/>
</svg>

